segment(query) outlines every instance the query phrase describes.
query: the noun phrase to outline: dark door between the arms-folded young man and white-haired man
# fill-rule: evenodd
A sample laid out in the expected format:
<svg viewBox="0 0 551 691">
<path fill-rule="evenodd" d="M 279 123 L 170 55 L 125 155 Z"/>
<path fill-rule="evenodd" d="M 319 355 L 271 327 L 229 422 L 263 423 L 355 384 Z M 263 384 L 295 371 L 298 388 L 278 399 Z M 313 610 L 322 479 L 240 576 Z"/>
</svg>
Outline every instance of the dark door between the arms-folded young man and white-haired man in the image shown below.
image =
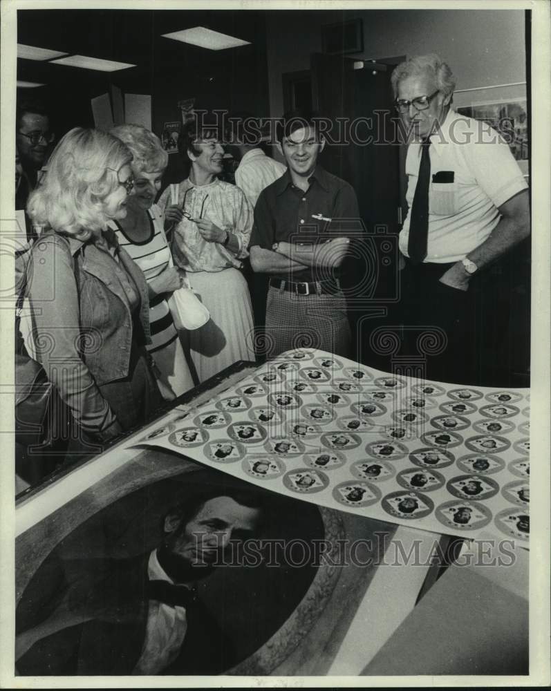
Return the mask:
<svg viewBox="0 0 551 691">
<path fill-rule="evenodd" d="M 399 61 L 397 59 L 397 61 Z M 375 321 L 398 301 L 400 149 L 390 86 L 391 64 L 342 56 L 311 57 L 312 104 L 330 118 L 333 135 L 321 154 L 330 173 L 354 187 L 364 225 L 362 242 L 342 272 L 358 359 L 365 361 Z M 336 135 L 336 136 L 335 136 Z"/>
</svg>

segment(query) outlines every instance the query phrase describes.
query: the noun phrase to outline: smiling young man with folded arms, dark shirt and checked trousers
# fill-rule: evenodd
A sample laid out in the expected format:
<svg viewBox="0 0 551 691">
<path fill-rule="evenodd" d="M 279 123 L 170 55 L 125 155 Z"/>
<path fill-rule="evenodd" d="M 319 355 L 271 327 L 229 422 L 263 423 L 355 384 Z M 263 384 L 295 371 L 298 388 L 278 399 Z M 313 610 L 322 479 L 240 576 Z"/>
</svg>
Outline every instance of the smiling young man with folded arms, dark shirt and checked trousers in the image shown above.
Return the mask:
<svg viewBox="0 0 551 691">
<path fill-rule="evenodd" d="M 318 164 L 325 140 L 315 113 L 286 113 L 277 139 L 288 170 L 260 193 L 250 243 L 253 270 L 271 276 L 268 354 L 308 343 L 349 357 L 351 330 L 339 267 L 351 222 L 359 218 L 356 194 Z"/>
</svg>

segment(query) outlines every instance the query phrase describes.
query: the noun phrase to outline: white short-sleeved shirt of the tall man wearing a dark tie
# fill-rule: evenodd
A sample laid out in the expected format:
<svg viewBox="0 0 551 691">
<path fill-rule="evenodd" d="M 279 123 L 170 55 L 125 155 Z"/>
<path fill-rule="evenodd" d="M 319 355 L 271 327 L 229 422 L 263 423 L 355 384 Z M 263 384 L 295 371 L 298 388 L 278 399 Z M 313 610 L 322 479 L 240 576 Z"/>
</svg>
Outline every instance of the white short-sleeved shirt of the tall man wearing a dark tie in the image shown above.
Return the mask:
<svg viewBox="0 0 551 691">
<path fill-rule="evenodd" d="M 409 220 L 421 161 L 420 144 L 406 158 L 408 214 L 400 251 L 408 256 Z M 527 188 L 508 144 L 487 123 L 449 111 L 429 148 L 429 236 L 425 262 L 460 261 L 499 223 L 498 207 Z"/>
</svg>

